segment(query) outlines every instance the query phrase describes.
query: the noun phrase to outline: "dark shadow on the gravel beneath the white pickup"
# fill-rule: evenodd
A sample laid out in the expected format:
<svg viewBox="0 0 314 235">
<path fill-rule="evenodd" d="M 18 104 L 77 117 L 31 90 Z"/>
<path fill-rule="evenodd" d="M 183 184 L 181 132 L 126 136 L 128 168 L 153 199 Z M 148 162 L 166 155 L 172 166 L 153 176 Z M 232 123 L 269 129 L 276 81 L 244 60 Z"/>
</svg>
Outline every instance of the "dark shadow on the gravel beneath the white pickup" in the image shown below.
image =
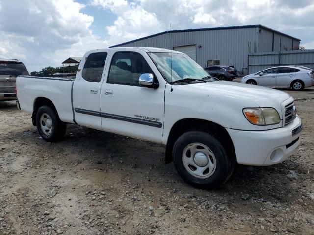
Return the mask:
<svg viewBox="0 0 314 235">
<path fill-rule="evenodd" d="M 16 132 L 13 135 L 21 136 L 21 133 Z M 101 171 L 100 178 L 89 178 L 91 184 L 95 185 L 105 178 L 106 172 L 110 172 L 115 178 L 121 178 L 121 183 L 118 181 L 118 184 L 123 184 L 122 179 L 125 179 L 143 188 L 159 188 L 160 191 L 174 188 L 182 195 L 231 197 L 234 201 L 249 204 L 262 200 L 288 204 L 301 198 L 297 187 L 302 185 L 306 177 L 303 174 L 306 166 L 297 164 L 293 158 L 268 167 L 237 165 L 234 174 L 224 186 L 207 191 L 184 183 L 173 164 L 164 164 L 164 146 L 148 141 L 78 125 L 68 125 L 64 141 L 55 144 L 43 141 L 35 129 L 25 131 L 19 141 L 30 145 L 32 149 L 40 147 L 43 155 L 53 154 L 55 157 L 52 164 L 78 165 L 91 172 Z"/>
</svg>

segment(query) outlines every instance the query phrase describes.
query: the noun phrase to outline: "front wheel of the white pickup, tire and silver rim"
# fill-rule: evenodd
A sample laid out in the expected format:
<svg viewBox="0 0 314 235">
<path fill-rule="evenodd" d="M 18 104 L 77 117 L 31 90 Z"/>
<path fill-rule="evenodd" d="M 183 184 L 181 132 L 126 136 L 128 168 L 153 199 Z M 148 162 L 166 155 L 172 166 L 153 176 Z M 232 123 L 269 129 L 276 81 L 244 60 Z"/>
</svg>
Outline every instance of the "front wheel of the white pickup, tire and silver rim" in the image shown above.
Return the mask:
<svg viewBox="0 0 314 235">
<path fill-rule="evenodd" d="M 225 148 L 213 135 L 189 131 L 173 146 L 173 162 L 185 182 L 212 189 L 225 183 L 234 170 Z"/>
</svg>

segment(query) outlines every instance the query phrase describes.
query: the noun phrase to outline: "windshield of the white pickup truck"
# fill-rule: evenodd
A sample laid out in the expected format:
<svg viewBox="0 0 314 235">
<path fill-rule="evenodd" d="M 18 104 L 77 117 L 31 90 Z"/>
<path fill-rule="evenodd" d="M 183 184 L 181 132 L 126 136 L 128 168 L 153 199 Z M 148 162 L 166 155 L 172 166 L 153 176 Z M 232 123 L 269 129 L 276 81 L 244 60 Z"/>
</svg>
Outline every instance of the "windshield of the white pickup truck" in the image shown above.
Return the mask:
<svg viewBox="0 0 314 235">
<path fill-rule="evenodd" d="M 168 52 L 154 52 L 149 53 L 149 55 L 156 64 L 160 73 L 169 83 L 187 78 L 212 79 L 199 64 L 187 55 Z M 214 81 L 214 79 L 212 80 Z"/>
</svg>

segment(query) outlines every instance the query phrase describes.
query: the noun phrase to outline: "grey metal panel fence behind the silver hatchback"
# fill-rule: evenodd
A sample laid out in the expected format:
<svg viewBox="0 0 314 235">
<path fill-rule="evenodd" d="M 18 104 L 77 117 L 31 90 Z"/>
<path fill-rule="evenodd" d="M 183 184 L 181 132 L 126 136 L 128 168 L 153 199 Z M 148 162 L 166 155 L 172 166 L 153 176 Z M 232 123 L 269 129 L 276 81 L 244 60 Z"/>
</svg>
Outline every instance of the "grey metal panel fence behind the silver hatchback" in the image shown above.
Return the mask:
<svg viewBox="0 0 314 235">
<path fill-rule="evenodd" d="M 279 65 L 302 65 L 314 68 L 314 50 L 263 52 L 249 55 L 249 73 Z"/>
</svg>

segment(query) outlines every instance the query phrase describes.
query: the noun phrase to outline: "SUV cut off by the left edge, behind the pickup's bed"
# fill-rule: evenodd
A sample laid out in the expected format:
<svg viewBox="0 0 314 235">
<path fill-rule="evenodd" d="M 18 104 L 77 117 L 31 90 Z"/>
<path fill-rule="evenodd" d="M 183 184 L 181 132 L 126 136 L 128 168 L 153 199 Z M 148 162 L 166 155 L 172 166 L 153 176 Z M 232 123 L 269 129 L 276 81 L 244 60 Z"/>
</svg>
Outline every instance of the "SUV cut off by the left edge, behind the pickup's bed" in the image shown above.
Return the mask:
<svg viewBox="0 0 314 235">
<path fill-rule="evenodd" d="M 17 99 L 15 82 L 18 75 L 29 75 L 21 61 L 0 59 L 0 101 Z"/>
</svg>

